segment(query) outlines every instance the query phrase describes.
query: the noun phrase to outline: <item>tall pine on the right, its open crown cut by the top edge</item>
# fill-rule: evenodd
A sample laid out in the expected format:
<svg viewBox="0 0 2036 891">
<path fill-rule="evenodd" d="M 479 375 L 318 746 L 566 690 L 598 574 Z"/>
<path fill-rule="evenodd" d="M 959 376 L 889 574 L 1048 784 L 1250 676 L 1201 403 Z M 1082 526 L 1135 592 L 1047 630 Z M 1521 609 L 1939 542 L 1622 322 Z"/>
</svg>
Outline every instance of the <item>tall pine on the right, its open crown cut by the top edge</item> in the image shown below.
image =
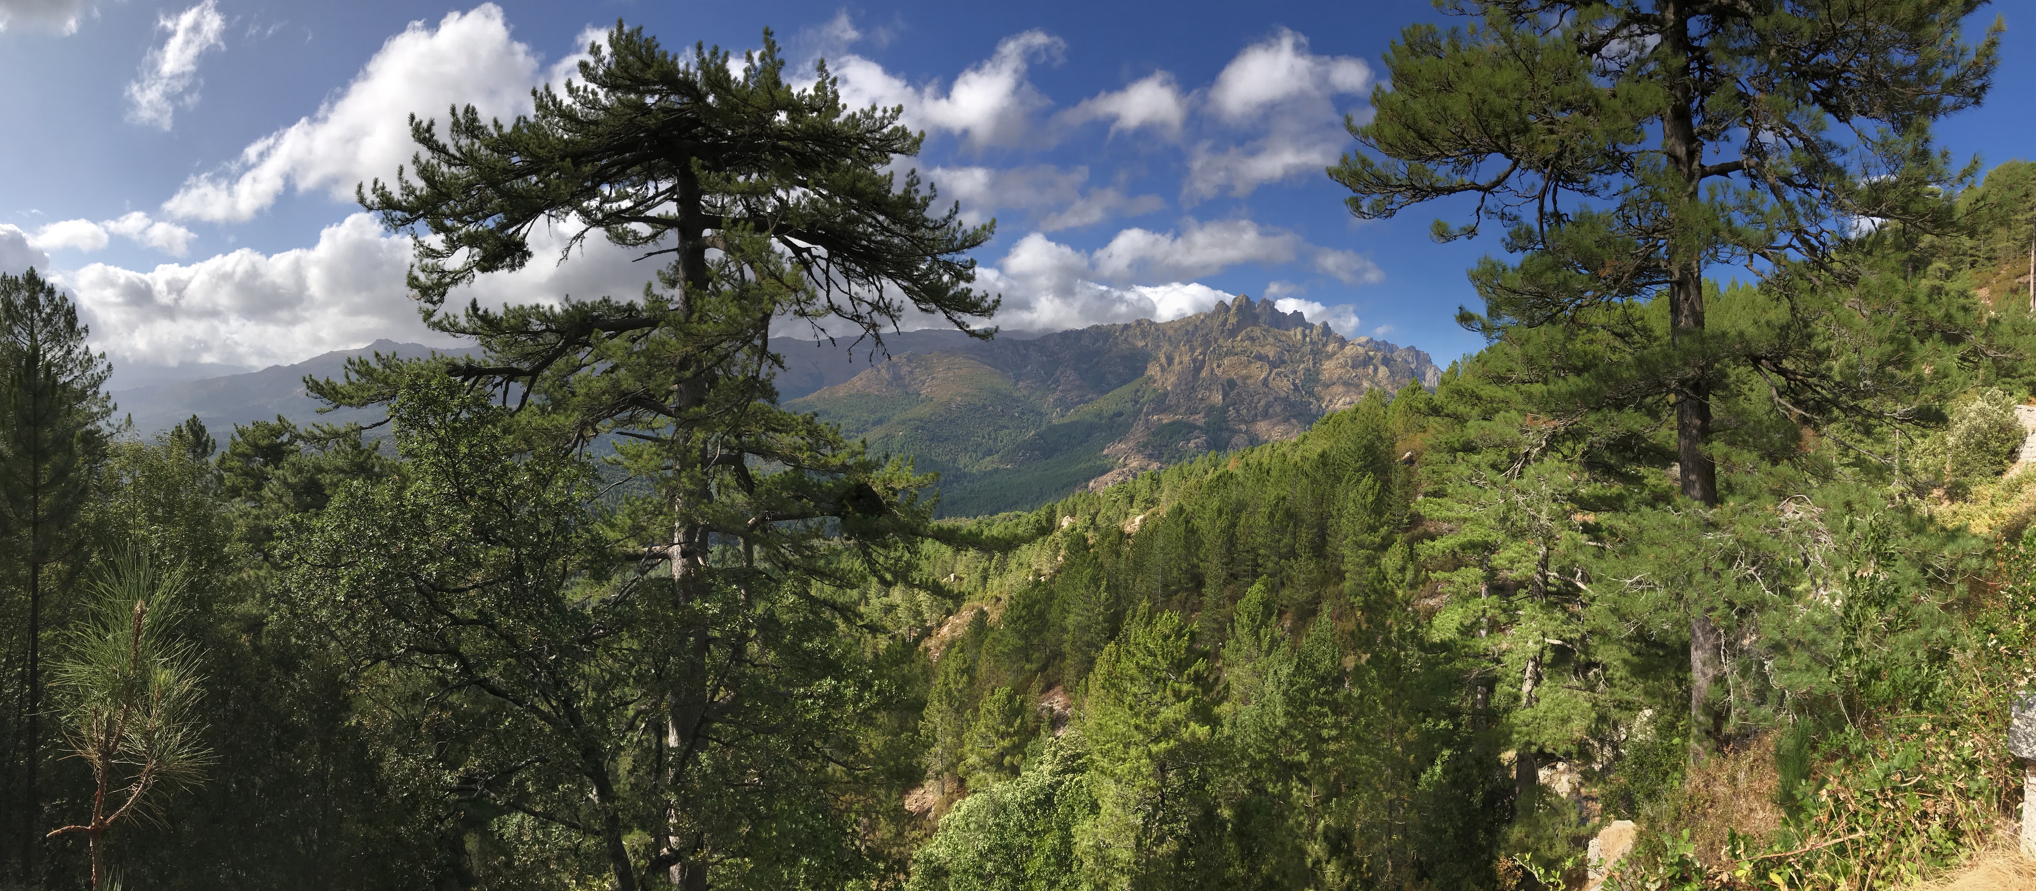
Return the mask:
<svg viewBox="0 0 2036 891">
<path fill-rule="evenodd" d="M 1537 411 L 1670 403 L 1682 494 L 1718 504 L 1714 393 L 1753 368 L 1775 407 L 1818 425 L 1855 407 L 1802 332 L 1855 279 L 1845 246 L 1865 220 L 1946 224 L 1930 124 L 1985 94 L 1997 37 L 1961 22 L 1981 0 L 1460 0 L 1464 28 L 1409 26 L 1391 90 L 1352 120 L 1364 146 L 1330 175 L 1360 218 L 1468 199 L 1441 240 L 1507 226 L 1517 262 L 1482 260 L 1468 328 L 1572 332 L 1655 297 L 1667 336 L 1635 323 L 1617 356 L 1572 374 Z M 1704 273 L 1743 264 L 1767 287 L 1757 323 L 1706 325 Z M 1633 321 L 1627 317 L 1627 321 Z M 1714 319 L 1716 321 L 1716 319 Z M 1745 321 L 1745 319 L 1735 319 Z M 1690 708 L 1706 710 L 1720 631 L 1690 598 Z"/>
</svg>

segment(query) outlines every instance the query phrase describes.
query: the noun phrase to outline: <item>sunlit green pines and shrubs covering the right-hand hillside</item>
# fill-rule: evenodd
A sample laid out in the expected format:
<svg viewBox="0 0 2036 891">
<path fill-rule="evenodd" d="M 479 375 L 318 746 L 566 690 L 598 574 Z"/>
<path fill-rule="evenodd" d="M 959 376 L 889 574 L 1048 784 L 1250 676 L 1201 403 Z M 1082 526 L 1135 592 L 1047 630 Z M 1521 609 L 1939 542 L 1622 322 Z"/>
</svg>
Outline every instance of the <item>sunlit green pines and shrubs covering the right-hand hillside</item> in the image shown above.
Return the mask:
<svg viewBox="0 0 2036 891">
<path fill-rule="evenodd" d="M 1085 865 L 1110 869 L 1079 877 L 1154 887 L 1576 879 L 1596 826 L 1576 797 L 1539 781 L 1549 763 L 1578 775 L 1606 820 L 1641 820 L 1653 838 L 1625 887 L 1743 887 L 1773 875 L 1784 887 L 1857 887 L 1957 863 L 1981 838 L 1979 814 L 1997 812 L 2010 789 L 1993 779 L 1999 755 L 1979 742 L 1997 730 L 1959 724 L 1948 738 L 1975 740 L 1961 749 L 1946 745 L 1944 718 L 2003 714 L 1981 700 L 2003 690 L 1981 679 L 1997 671 L 1981 631 L 1997 625 L 1961 594 L 1985 572 L 1979 539 L 1912 498 L 1914 468 L 1932 441 L 1985 441 L 1967 448 L 1987 456 L 1967 472 L 1999 474 L 2020 441 L 2001 395 L 2020 387 L 2020 358 L 2003 344 L 2020 344 L 2024 328 L 1997 321 L 1999 340 L 1977 342 L 1965 325 L 1981 315 L 1946 297 L 1940 273 L 1906 260 L 1916 244 L 1950 240 L 1904 242 L 1902 230 L 1863 240 L 1853 260 L 1871 275 L 1855 295 L 1885 309 L 1830 303 L 1816 309 L 1828 323 L 1808 334 L 1775 309 L 1775 285 L 1706 287 L 1716 332 L 1808 338 L 1798 356 L 1859 362 L 1818 370 L 1851 389 L 1857 415 L 1796 415 L 1794 397 L 1777 401 L 1757 368 L 1718 378 L 1716 507 L 1678 498 L 1676 401 L 1635 384 L 1659 370 L 1647 370 L 1657 360 L 1645 352 L 1672 332 L 1667 301 L 1653 299 L 1580 311 L 1568 330 L 1511 328 L 1435 393 L 1360 405 L 1293 443 L 983 523 L 992 537 L 1040 535 L 1008 555 L 935 553 L 937 572 L 953 568 L 971 596 L 1004 606 L 977 690 L 1085 684 L 1097 810 L 1075 838 Z M 1936 328 L 1912 334 L 1891 321 L 1902 317 Z M 1977 380 L 1999 382 L 1975 393 Z M 1936 413 L 1944 405 L 1953 411 Z M 1904 472 L 1891 460 L 1898 435 Z M 1391 462 L 1407 446 L 1417 474 Z M 1142 631 L 1158 618 L 1140 616 L 1169 610 L 1173 631 Z M 1138 671 L 1146 688 L 1134 700 L 1146 712 L 1130 714 L 1148 714 L 1144 724 L 1124 718 L 1126 696 L 1097 698 L 1118 690 L 1132 645 L 1177 657 Z M 1694 655 L 1704 657 L 1702 696 Z M 1195 659 L 1207 681 L 1163 684 Z M 1116 732 L 1169 747 L 1097 745 L 1097 714 L 1167 726 Z M 1158 718 L 1171 714 L 1213 718 Z M 1934 732 L 1914 730 L 1918 720 Z M 1684 820 L 1704 814 L 1684 810 L 1682 791 L 1692 757 L 1763 734 L 1773 734 L 1765 745 L 1777 751 L 1786 824 L 1769 836 L 1727 832 L 1722 852 L 1696 850 Z M 1156 769 L 1154 751 L 1220 755 Z M 1195 779 L 1165 795 L 1148 783 L 1144 799 L 1122 791 L 1140 787 L 1120 777 L 1146 775 Z M 1171 810 L 1136 808 L 1161 799 Z M 1006 832 L 985 810 L 967 826 L 945 822 L 928 850 Z"/>
</svg>

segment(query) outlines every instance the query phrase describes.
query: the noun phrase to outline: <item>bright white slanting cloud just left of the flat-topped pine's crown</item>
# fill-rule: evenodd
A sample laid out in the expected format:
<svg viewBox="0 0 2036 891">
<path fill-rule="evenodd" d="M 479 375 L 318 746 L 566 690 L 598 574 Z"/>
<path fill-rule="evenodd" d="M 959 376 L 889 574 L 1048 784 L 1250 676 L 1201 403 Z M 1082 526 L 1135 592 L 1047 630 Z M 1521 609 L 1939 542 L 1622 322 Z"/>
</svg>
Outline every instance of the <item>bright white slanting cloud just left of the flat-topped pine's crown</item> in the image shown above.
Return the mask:
<svg viewBox="0 0 2036 891">
<path fill-rule="evenodd" d="M 562 67 L 550 71 L 562 73 Z M 393 179 L 409 163 L 415 144 L 405 114 L 444 120 L 448 106 L 472 104 L 483 118 L 507 120 L 529 110 L 538 79 L 538 57 L 509 39 L 509 22 L 495 4 L 450 12 L 438 28 L 411 22 L 318 114 L 254 140 L 226 171 L 191 177 L 163 212 L 240 222 L 269 207 L 287 185 L 348 199 L 354 183 Z"/>
</svg>

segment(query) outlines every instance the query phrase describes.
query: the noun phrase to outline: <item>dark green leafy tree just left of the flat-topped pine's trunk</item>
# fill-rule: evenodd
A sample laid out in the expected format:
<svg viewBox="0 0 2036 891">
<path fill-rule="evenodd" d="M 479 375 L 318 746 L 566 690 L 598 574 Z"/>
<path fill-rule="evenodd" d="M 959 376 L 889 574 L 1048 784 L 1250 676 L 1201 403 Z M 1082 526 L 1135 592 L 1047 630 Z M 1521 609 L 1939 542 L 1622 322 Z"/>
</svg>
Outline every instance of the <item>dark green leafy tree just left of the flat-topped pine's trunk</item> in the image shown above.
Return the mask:
<svg viewBox="0 0 2036 891">
<path fill-rule="evenodd" d="M 507 452 L 505 415 L 450 382 L 407 387 L 391 405 L 405 474 L 342 488 L 279 531 L 285 616 L 362 673 L 364 718 L 387 726 L 377 742 L 397 775 L 458 789 L 472 804 L 448 804 L 468 822 L 472 808 L 535 814 L 458 863 L 476 881 L 588 869 L 550 852 L 523 863 L 517 840 L 582 848 L 595 869 L 627 856 L 603 846 L 621 844 L 627 814 L 611 738 L 633 700 L 629 667 L 658 645 L 599 631 L 635 625 L 645 598 L 603 559 L 590 468 Z M 566 824 L 588 844 L 568 842 Z"/>
</svg>

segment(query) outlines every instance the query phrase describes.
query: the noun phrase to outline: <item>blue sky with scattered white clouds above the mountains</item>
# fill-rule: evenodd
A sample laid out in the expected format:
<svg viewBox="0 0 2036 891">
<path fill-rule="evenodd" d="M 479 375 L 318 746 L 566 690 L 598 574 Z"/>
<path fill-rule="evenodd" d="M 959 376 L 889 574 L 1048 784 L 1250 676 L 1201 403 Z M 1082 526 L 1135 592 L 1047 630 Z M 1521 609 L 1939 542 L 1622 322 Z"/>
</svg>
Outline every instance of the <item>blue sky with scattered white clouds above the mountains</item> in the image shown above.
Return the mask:
<svg viewBox="0 0 2036 891">
<path fill-rule="evenodd" d="M 2007 18 L 1993 100 L 1940 132 L 1961 159 L 2028 157 L 2036 43 Z M 352 187 L 409 155 L 405 114 L 527 108 L 617 18 L 666 45 L 747 49 L 772 26 L 851 98 L 904 104 L 908 161 L 996 218 L 977 252 L 1006 328 L 1177 317 L 1277 297 L 1346 336 L 1448 362 L 1478 340 L 1431 212 L 1356 222 L 1321 167 L 1350 146 L 1415 2 L 348 2 L 0 0 L 0 271 L 53 271 L 116 387 L 436 338 L 403 297 L 407 242 Z M 1446 207 L 1439 212 L 1448 214 Z M 476 285 L 489 301 L 635 293 L 605 248 Z"/>
</svg>

